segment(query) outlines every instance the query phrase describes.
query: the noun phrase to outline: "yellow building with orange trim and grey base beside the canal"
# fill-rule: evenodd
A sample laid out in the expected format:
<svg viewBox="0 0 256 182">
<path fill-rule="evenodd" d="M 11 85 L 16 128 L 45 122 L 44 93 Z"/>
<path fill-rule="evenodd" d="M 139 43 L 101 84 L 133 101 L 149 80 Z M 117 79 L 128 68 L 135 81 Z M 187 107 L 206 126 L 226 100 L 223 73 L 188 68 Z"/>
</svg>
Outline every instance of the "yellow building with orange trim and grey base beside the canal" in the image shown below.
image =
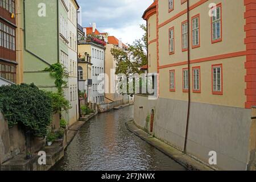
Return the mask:
<svg viewBox="0 0 256 182">
<path fill-rule="evenodd" d="M 246 169 L 256 105 L 255 5 L 250 0 L 152 3 L 143 19 L 158 99 L 135 96 L 135 123 L 204 163 L 214 151 L 214 167 Z"/>
</svg>

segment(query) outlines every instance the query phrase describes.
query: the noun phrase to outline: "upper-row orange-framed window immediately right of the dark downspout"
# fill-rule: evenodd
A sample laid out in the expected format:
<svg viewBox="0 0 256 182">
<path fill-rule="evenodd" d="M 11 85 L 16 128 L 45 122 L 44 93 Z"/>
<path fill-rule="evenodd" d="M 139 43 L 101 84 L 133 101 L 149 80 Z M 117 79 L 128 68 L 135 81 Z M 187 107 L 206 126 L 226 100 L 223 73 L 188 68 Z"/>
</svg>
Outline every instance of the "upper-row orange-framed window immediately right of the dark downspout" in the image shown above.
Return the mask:
<svg viewBox="0 0 256 182">
<path fill-rule="evenodd" d="M 192 48 L 200 47 L 200 18 L 192 17 Z"/>
</svg>

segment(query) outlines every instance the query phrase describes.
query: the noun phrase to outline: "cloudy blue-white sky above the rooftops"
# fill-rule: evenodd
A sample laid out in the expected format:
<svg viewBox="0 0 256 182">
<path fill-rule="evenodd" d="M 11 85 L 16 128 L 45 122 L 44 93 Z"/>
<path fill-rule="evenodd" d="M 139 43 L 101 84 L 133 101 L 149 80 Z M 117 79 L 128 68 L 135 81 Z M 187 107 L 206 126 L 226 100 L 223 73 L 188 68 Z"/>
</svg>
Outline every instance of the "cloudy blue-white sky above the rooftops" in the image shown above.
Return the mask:
<svg viewBox="0 0 256 182">
<path fill-rule="evenodd" d="M 77 0 L 82 8 L 82 26 L 96 23 L 100 32 L 108 32 L 123 43 L 133 43 L 142 37 L 139 24 L 144 10 L 153 0 Z"/>
</svg>

